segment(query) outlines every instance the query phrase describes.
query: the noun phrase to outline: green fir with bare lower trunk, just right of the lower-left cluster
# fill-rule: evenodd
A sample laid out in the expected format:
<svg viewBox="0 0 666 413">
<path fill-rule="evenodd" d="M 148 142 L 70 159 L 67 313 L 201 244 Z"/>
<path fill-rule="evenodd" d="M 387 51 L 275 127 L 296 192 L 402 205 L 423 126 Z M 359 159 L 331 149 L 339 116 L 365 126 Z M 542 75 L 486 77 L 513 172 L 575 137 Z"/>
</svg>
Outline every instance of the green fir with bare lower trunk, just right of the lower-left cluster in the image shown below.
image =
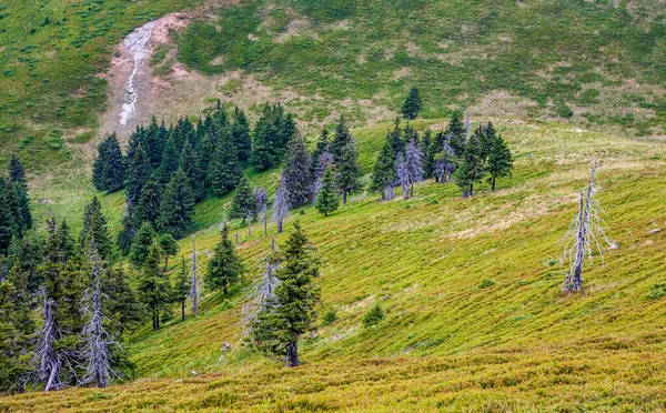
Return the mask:
<svg viewBox="0 0 666 413">
<path fill-rule="evenodd" d="M 137 280 L 139 300 L 145 304 L 152 314 L 153 330 L 160 329 L 160 314 L 169 303 L 169 279 L 162 271 L 162 251 L 160 245 L 152 244 L 143 260 Z"/>
</svg>

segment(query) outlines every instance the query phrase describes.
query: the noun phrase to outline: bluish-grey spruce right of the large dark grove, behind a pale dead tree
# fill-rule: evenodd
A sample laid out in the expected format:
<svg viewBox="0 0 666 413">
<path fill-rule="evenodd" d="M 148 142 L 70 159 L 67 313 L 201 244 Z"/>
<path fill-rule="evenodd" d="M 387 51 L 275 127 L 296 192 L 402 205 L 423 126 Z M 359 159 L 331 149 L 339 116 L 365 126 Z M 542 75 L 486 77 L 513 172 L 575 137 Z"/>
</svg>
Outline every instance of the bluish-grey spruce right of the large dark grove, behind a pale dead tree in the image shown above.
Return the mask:
<svg viewBox="0 0 666 413">
<path fill-rule="evenodd" d="M 290 194 L 292 208 L 299 208 L 307 202 L 312 193 L 312 159 L 305 147 L 305 141 L 296 134 L 289 143 L 284 180 Z"/>
</svg>

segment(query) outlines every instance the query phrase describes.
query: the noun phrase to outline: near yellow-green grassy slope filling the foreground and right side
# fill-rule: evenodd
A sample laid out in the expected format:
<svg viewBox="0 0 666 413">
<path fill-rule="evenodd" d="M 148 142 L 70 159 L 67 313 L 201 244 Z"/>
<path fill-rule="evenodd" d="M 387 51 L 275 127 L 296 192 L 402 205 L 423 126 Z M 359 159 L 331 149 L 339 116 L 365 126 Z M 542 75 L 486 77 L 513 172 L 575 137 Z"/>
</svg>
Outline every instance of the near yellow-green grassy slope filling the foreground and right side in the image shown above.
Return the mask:
<svg viewBox="0 0 666 413">
<path fill-rule="evenodd" d="M 410 201 L 363 195 L 329 218 L 312 208 L 299 216 L 323 258 L 322 310 L 340 316 L 303 342 L 305 366 L 287 371 L 241 345 L 241 304 L 271 225 L 269 238 L 240 230 L 251 271 L 228 299 L 208 296 L 199 318 L 132 340 L 132 360 L 151 380 L 19 395 L 0 406 L 666 409 L 666 239 L 652 231 L 664 224 L 664 145 L 556 123 L 498 124 L 516 170 L 496 193 L 481 188 L 463 200 L 453 184 L 431 182 Z M 355 130 L 362 160 L 389 127 Z M 606 251 L 604 266 L 595 256 L 584 293 L 563 296 L 565 269 L 551 260 L 595 157 L 605 162 L 599 201 L 618 249 Z M 204 264 L 216 238 L 214 228 L 198 233 Z M 185 256 L 190 245 L 181 243 Z M 375 302 L 386 319 L 363 329 Z M 232 351 L 220 357 L 224 342 Z M 192 370 L 203 377 L 192 379 Z"/>
</svg>

